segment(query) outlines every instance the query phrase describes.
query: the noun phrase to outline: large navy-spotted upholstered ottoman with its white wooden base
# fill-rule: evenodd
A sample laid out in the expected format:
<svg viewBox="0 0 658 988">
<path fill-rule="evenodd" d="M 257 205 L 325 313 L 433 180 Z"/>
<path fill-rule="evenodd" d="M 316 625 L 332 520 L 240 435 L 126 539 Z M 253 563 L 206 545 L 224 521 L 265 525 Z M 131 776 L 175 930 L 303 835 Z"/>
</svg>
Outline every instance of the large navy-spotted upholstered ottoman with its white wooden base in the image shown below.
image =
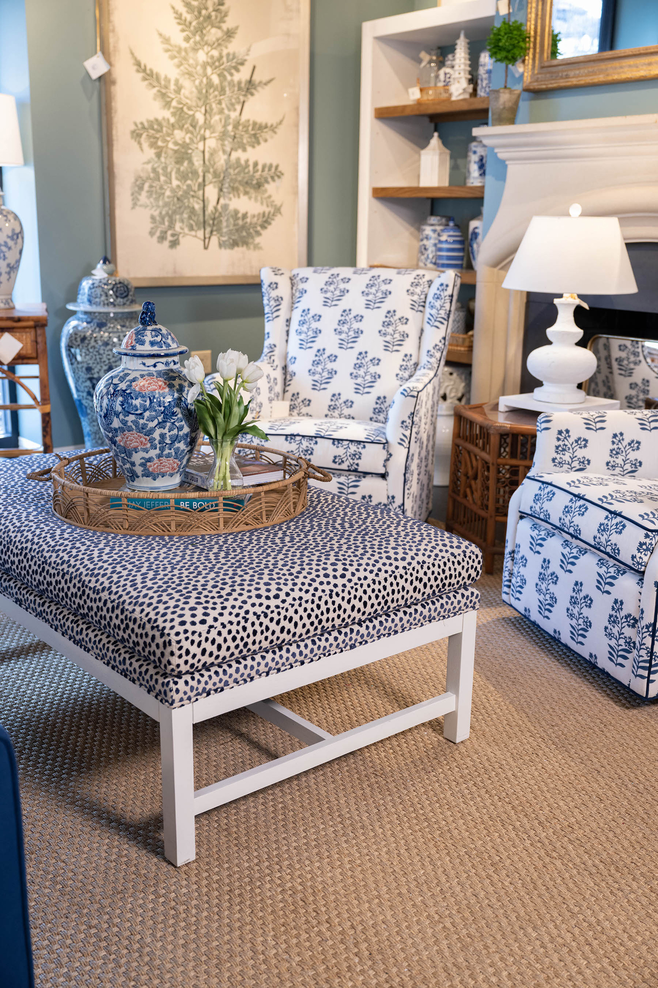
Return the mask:
<svg viewBox="0 0 658 988">
<path fill-rule="evenodd" d="M 256 532 L 88 532 L 26 478 L 46 464 L 0 459 L 0 611 L 160 722 L 174 864 L 194 860 L 207 809 L 434 717 L 449 740 L 468 736 L 481 568 L 470 542 L 317 488 L 298 518 Z M 445 637 L 446 693 L 343 734 L 270 700 Z M 195 792 L 193 723 L 243 706 L 306 747 Z"/>
</svg>

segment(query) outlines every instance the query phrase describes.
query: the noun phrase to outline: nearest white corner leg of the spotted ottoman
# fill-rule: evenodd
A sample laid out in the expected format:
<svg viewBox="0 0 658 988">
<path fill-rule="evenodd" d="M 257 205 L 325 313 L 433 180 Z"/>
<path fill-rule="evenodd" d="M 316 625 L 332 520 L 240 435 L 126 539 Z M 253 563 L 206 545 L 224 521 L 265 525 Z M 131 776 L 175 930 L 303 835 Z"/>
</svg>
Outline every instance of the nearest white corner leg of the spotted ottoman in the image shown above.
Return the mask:
<svg viewBox="0 0 658 988">
<path fill-rule="evenodd" d="M 192 704 L 160 707 L 160 757 L 165 858 L 187 864 L 196 857 Z"/>
</svg>

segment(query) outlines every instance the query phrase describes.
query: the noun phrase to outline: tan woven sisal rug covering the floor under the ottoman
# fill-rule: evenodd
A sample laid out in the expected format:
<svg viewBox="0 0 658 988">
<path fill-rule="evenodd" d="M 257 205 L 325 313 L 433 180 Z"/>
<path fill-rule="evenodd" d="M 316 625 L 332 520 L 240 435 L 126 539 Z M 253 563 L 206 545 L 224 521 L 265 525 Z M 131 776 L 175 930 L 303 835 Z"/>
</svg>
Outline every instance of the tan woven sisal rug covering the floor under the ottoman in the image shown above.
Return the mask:
<svg viewBox="0 0 658 988">
<path fill-rule="evenodd" d="M 39 988 L 658 984 L 658 707 L 480 581 L 471 737 L 423 724 L 197 818 L 162 856 L 158 727 L 0 619 Z M 284 700 L 336 733 L 443 690 L 445 645 Z M 296 746 L 195 729 L 197 787 Z"/>
</svg>

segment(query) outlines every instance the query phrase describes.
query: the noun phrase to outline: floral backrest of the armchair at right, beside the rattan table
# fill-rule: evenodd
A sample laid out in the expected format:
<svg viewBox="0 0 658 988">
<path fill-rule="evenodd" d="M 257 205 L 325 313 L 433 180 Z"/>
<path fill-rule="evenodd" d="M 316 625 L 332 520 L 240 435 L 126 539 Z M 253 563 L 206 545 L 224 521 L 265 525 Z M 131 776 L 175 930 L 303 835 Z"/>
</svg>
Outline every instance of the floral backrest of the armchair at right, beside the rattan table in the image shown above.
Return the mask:
<svg viewBox="0 0 658 988">
<path fill-rule="evenodd" d="M 533 472 L 658 477 L 658 410 L 550 412 L 536 422 Z"/>
</svg>

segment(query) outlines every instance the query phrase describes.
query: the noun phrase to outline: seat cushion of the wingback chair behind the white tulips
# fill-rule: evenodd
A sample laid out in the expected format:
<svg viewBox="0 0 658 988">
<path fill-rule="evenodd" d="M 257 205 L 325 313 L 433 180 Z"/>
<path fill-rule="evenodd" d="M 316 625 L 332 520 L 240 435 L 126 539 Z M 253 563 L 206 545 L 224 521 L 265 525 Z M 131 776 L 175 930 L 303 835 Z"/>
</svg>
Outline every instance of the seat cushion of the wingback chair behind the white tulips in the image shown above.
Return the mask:
<svg viewBox="0 0 658 988">
<path fill-rule="evenodd" d="M 258 424 L 275 449 L 305 456 L 316 466 L 382 475 L 386 472 L 386 427 L 378 422 L 300 417 L 259 420 Z"/>
</svg>

